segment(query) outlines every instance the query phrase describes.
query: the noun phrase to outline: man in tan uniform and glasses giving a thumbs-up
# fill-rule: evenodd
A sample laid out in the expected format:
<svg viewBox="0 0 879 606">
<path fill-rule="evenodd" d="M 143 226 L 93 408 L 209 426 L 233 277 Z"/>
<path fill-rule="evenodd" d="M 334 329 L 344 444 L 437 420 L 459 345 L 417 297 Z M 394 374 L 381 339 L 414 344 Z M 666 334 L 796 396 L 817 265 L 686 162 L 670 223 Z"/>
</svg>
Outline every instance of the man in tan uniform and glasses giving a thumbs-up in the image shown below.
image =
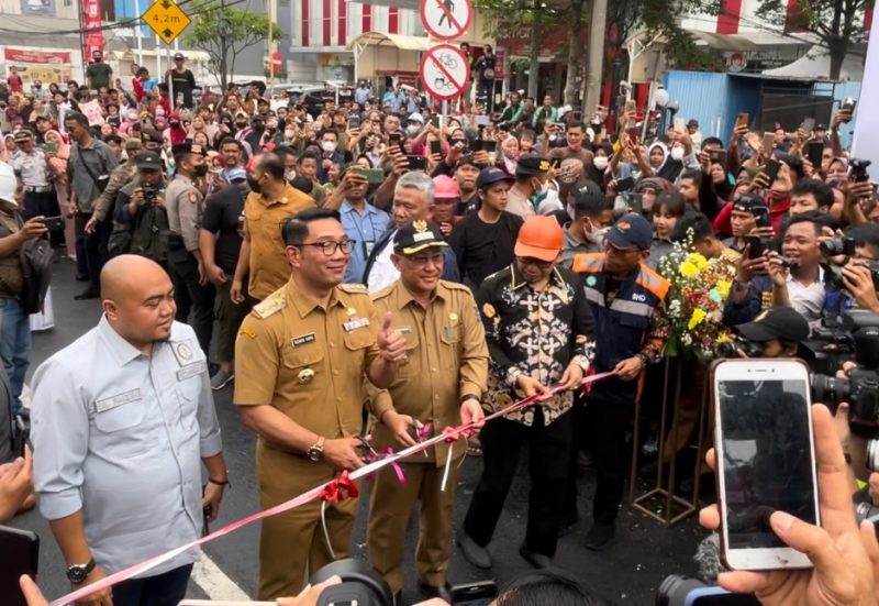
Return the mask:
<svg viewBox="0 0 879 606">
<path fill-rule="evenodd" d="M 244 320 L 235 344 L 235 396 L 259 437 L 263 508 L 361 466 L 364 375 L 388 387 L 407 340 L 379 319 L 360 285 L 342 284 L 353 243 L 338 212 L 308 209 L 283 224 L 286 285 Z M 351 552 L 357 499 L 312 502 L 263 521 L 259 599 L 294 595 L 309 572 Z"/>
</svg>

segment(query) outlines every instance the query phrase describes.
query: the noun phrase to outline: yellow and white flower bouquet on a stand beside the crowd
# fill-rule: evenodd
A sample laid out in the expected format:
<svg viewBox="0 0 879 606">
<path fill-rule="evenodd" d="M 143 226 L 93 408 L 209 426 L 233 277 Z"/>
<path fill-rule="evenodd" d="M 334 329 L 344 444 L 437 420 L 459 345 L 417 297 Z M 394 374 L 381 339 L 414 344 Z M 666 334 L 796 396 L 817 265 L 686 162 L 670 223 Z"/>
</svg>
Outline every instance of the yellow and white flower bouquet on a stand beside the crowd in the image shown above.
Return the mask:
<svg viewBox="0 0 879 606">
<path fill-rule="evenodd" d="M 708 260 L 688 250 L 688 242 L 659 260 L 658 271 L 669 282 L 666 317 L 669 335 L 666 355 L 693 354 L 713 360 L 730 341 L 723 308 L 735 277 L 735 266 L 725 258 Z"/>
</svg>

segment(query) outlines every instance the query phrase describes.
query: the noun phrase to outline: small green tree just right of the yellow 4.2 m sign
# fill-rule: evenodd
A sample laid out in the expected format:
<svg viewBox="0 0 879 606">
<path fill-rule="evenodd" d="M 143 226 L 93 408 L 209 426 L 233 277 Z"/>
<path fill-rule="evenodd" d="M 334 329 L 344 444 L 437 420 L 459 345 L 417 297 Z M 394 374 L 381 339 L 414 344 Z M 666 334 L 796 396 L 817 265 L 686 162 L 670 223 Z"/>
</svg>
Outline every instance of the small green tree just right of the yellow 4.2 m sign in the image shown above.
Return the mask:
<svg viewBox="0 0 879 606">
<path fill-rule="evenodd" d="M 222 2 L 222 0 L 221 0 Z M 186 35 L 186 42 L 201 48 L 210 56 L 210 70 L 220 80 L 223 90 L 229 76 L 235 74 L 235 60 L 246 48 L 268 40 L 269 19 L 263 13 L 226 8 L 208 0 L 192 0 L 196 18 Z M 282 38 L 281 29 L 271 24 L 271 40 Z"/>
</svg>

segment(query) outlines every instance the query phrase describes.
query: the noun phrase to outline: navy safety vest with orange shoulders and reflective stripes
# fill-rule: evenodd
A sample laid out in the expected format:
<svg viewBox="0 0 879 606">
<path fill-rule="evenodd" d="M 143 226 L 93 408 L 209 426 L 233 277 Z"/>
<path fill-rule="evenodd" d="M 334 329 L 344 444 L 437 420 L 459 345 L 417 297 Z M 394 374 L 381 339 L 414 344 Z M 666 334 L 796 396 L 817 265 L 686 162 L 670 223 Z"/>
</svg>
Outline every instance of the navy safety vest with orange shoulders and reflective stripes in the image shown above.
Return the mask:
<svg viewBox="0 0 879 606">
<path fill-rule="evenodd" d="M 668 293 L 668 280 L 642 264 L 620 285 L 610 301 L 604 294 L 609 275 L 604 273 L 604 253 L 579 254 L 572 269 L 583 274 L 583 290 L 596 319 L 596 373 L 612 371 L 622 360 L 644 348 L 654 309 Z M 643 375 L 642 375 L 643 379 Z M 641 379 L 609 378 L 592 386 L 590 397 L 614 403 L 633 404 L 639 396 Z"/>
</svg>

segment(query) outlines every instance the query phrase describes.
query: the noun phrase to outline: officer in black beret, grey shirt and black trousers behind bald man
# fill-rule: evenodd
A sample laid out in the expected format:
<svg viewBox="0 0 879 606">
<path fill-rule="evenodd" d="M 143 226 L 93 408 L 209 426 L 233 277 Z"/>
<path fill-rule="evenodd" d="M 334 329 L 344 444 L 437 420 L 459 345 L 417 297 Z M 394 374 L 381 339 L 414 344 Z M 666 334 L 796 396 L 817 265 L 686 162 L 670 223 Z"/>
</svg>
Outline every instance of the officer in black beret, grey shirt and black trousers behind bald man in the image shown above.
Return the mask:
<svg viewBox="0 0 879 606">
<path fill-rule="evenodd" d="M 213 330 L 213 285 L 208 282 L 199 251 L 199 221 L 203 211 L 204 180 L 208 164 L 204 148 L 196 143 L 180 143 L 171 148 L 177 173 L 165 191 L 168 212 L 168 266 L 175 283 L 177 319 L 185 322 L 192 311 L 192 328 L 199 345 L 208 352 Z"/>
</svg>

